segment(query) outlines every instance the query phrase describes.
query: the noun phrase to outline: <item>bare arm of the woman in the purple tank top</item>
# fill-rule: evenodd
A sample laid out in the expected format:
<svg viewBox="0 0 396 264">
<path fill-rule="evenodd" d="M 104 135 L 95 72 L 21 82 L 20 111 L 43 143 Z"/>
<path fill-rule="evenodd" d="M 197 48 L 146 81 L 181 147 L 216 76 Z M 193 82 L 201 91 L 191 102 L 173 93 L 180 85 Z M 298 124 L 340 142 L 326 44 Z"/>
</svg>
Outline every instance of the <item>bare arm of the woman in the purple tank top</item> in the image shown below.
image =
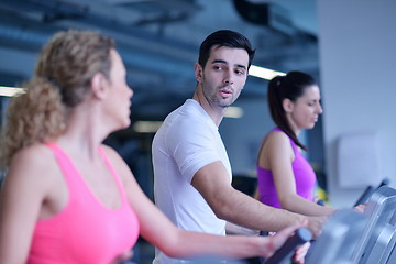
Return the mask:
<svg viewBox="0 0 396 264">
<path fill-rule="evenodd" d="M 268 134 L 265 144 L 260 153 L 258 162 L 265 163 L 265 167 L 272 170 L 282 207 L 306 216 L 332 215 L 334 209 L 319 206 L 297 194 L 292 167 L 295 156 L 287 135 L 280 132 L 272 132 Z"/>
</svg>

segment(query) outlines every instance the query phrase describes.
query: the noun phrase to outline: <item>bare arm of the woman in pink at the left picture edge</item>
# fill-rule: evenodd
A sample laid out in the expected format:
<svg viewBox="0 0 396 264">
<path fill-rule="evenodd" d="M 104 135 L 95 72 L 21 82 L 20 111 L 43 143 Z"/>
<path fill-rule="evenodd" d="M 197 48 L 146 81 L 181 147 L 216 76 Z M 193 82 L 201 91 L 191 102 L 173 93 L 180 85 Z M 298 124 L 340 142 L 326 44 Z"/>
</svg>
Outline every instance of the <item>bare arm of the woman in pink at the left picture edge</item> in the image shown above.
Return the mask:
<svg viewBox="0 0 396 264">
<path fill-rule="evenodd" d="M 34 147 L 11 162 L 0 193 L 0 263 L 25 263 L 48 188 L 48 163 Z"/>
</svg>

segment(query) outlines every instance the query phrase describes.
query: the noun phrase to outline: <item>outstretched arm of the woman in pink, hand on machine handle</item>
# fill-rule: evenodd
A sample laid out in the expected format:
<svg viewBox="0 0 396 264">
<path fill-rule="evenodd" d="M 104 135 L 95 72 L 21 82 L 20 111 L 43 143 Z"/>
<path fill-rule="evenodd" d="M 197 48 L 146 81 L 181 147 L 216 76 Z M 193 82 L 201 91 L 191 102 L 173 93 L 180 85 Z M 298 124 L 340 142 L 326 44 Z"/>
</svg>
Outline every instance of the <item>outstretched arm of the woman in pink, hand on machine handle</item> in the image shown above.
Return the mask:
<svg viewBox="0 0 396 264">
<path fill-rule="evenodd" d="M 113 156 L 129 201 L 138 215 L 141 235 L 170 257 L 216 255 L 224 257 L 270 256 L 301 224 L 275 237 L 212 235 L 176 228 L 145 196 L 121 157 Z"/>
</svg>

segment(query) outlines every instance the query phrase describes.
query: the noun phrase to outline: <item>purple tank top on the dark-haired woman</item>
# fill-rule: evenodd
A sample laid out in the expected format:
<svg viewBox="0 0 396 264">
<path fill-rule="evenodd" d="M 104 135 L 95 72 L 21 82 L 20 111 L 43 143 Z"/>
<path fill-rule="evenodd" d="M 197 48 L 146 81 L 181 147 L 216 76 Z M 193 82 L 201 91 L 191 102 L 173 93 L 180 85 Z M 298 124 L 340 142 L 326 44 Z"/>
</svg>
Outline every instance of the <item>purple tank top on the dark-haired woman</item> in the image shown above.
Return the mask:
<svg viewBox="0 0 396 264">
<path fill-rule="evenodd" d="M 275 128 L 270 131 L 270 133 L 273 131 L 283 132 L 280 129 Z M 292 163 L 292 167 L 296 180 L 296 191 L 300 197 L 312 201 L 314 188 L 316 185 L 315 172 L 308 161 L 299 152 L 296 143 L 290 138 L 289 140 L 295 153 L 295 160 Z M 277 198 L 272 172 L 270 169 L 260 167 L 257 164 L 257 180 L 261 201 L 272 207 L 282 208 Z"/>
</svg>

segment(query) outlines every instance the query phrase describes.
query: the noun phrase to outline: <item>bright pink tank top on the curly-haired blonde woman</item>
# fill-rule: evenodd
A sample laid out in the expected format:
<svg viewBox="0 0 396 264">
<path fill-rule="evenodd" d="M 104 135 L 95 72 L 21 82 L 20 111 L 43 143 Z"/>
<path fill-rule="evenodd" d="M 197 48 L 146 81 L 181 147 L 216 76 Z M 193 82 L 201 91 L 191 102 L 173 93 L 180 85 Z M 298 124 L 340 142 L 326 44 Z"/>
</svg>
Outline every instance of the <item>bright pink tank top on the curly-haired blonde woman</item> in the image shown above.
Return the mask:
<svg viewBox="0 0 396 264">
<path fill-rule="evenodd" d="M 131 250 L 138 240 L 139 221 L 105 152 L 98 148 L 121 194 L 118 209 L 107 208 L 94 196 L 59 146 L 46 145 L 54 152 L 69 197 L 63 211 L 36 222 L 28 263 L 109 264 Z"/>
</svg>

